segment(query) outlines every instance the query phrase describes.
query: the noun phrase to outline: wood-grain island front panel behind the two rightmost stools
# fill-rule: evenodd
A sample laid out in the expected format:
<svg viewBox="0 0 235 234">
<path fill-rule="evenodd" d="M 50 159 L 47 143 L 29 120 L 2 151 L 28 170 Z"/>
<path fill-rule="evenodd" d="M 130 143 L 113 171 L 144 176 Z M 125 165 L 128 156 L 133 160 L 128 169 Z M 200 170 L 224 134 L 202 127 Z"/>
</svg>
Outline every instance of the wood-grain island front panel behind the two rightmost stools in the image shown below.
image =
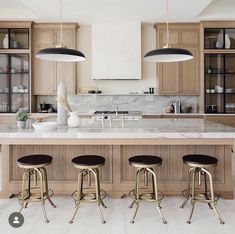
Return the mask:
<svg viewBox="0 0 235 234">
<path fill-rule="evenodd" d="M 158 180 L 164 183 L 187 181 L 188 166 L 182 162 L 186 154 L 207 154 L 218 158 L 217 167 L 210 169 L 214 181 L 224 183 L 225 146 L 121 146 L 121 181 L 133 181 L 135 169 L 128 164 L 128 158 L 134 155 L 157 155 L 163 159 L 158 168 Z M 229 148 L 229 147 L 228 147 Z M 226 157 L 229 157 L 228 155 Z"/>
</svg>

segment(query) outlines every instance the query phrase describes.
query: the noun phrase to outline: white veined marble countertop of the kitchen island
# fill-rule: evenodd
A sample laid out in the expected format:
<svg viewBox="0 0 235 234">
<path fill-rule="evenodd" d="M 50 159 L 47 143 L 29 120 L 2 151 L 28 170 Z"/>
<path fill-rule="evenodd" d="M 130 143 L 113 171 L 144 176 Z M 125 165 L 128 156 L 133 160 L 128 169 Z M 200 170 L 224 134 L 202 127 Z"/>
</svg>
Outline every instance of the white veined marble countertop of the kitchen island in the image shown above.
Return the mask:
<svg viewBox="0 0 235 234">
<path fill-rule="evenodd" d="M 16 138 L 54 139 L 137 139 L 137 138 L 235 138 L 235 128 L 203 119 L 142 119 L 136 121 L 107 121 L 81 119 L 79 128 L 59 126 L 52 131 L 34 130 L 30 121 L 26 129 L 15 125 L 0 124 L 0 143 Z"/>
</svg>

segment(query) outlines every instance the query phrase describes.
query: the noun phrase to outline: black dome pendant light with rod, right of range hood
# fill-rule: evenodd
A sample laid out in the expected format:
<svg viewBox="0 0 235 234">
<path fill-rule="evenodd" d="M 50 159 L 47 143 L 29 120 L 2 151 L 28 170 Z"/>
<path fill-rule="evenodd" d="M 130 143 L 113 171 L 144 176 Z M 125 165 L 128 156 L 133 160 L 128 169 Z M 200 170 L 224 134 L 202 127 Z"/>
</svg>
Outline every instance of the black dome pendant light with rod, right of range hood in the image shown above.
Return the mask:
<svg viewBox="0 0 235 234">
<path fill-rule="evenodd" d="M 193 59 L 190 51 L 182 48 L 172 48 L 169 45 L 168 0 L 166 0 L 166 45 L 161 49 L 151 50 L 145 56 L 150 62 L 180 62 Z"/>
</svg>

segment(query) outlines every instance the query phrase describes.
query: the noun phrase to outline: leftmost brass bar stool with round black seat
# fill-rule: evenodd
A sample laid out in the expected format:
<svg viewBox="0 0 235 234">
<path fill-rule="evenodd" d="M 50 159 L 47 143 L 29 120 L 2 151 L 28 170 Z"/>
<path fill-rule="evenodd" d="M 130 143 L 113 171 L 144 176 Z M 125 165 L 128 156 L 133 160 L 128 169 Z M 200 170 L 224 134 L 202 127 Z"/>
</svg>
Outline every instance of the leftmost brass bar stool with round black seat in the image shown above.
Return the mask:
<svg viewBox="0 0 235 234">
<path fill-rule="evenodd" d="M 53 191 L 48 189 L 46 166 L 52 163 L 52 157 L 44 154 L 34 154 L 21 157 L 17 160 L 17 165 L 25 169 L 22 179 L 22 191 L 18 193 L 17 197 L 21 204 L 19 212 L 26 208 L 29 202 L 41 202 L 42 212 L 45 217 L 45 222 L 48 223 L 46 210 L 44 207 L 47 199 L 55 208 L 55 204 L 51 200 Z M 40 184 L 37 186 L 37 177 L 39 175 Z M 31 177 L 34 176 L 34 186 L 31 185 Z M 44 179 L 44 180 L 43 180 Z M 26 184 L 28 180 L 28 188 Z"/>
</svg>

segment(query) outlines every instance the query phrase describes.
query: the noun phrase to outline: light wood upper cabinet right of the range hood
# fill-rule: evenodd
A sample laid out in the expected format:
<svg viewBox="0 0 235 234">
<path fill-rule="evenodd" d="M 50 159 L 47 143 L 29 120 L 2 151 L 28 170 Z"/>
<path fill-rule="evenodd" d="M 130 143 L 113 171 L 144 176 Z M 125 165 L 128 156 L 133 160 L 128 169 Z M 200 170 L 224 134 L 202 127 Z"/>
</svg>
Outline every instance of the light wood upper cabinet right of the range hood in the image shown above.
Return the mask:
<svg viewBox="0 0 235 234">
<path fill-rule="evenodd" d="M 166 44 L 166 25 L 156 24 L 158 48 Z M 200 30 L 199 24 L 172 24 L 170 46 L 185 48 L 194 58 L 175 63 L 159 63 L 159 93 L 162 95 L 200 95 Z"/>
</svg>

